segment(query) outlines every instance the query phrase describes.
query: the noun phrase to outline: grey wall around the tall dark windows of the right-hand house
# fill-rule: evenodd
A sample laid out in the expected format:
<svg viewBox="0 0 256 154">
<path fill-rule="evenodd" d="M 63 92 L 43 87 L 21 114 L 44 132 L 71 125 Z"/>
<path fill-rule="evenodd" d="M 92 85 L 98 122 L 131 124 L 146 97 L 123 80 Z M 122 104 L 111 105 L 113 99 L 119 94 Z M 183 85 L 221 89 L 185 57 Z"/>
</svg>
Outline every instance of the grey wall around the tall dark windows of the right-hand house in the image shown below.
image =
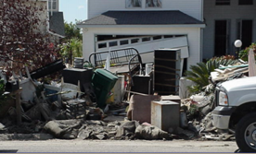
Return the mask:
<svg viewBox="0 0 256 154">
<path fill-rule="evenodd" d="M 204 18 L 206 28 L 203 36 L 203 58 L 214 55 L 214 25 L 217 19 L 230 19 L 229 50 L 235 53 L 234 42 L 237 40 L 237 19 L 253 19 L 253 37 L 256 41 L 256 3 L 253 6 L 238 6 L 238 0 L 231 0 L 230 6 L 215 6 L 215 0 L 204 0 Z"/>
</svg>

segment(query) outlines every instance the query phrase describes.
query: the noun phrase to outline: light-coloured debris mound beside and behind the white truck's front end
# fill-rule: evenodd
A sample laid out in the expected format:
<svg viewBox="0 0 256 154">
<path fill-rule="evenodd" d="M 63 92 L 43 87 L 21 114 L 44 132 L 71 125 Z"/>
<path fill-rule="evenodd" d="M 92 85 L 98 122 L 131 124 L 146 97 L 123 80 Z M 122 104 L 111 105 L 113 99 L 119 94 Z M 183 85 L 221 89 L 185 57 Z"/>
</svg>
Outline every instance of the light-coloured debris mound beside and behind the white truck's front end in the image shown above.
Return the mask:
<svg viewBox="0 0 256 154">
<path fill-rule="evenodd" d="M 211 72 L 210 84 L 204 91 L 182 100 L 181 108 L 186 113 L 187 130 L 195 132 L 200 139 L 235 140 L 232 130 L 219 130 L 212 125 L 211 111 L 216 107 L 215 87 L 224 81 L 248 77 L 249 65 L 242 60 L 236 65 L 221 65 Z"/>
</svg>

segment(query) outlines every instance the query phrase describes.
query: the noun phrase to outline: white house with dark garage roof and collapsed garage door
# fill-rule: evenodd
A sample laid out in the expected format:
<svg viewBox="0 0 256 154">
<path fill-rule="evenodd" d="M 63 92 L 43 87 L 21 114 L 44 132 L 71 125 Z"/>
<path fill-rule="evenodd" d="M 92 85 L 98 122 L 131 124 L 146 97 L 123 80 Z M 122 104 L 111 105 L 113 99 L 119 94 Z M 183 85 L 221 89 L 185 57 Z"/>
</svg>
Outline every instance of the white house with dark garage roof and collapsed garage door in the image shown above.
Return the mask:
<svg viewBox="0 0 256 154">
<path fill-rule="evenodd" d="M 160 48 L 181 48 L 185 67 L 202 60 L 202 0 L 87 0 L 83 57 L 134 47 L 143 62 L 153 62 Z M 147 55 L 146 55 L 147 54 Z"/>
</svg>

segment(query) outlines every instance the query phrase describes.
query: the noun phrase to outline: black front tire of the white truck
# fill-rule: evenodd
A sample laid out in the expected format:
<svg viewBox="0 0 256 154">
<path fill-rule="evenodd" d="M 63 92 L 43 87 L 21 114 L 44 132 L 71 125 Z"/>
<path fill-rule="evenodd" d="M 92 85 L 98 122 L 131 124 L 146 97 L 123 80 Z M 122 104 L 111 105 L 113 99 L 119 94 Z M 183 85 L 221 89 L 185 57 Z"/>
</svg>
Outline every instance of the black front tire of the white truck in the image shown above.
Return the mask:
<svg viewBox="0 0 256 154">
<path fill-rule="evenodd" d="M 236 141 L 242 152 L 256 152 L 256 113 L 249 113 L 238 122 Z"/>
</svg>

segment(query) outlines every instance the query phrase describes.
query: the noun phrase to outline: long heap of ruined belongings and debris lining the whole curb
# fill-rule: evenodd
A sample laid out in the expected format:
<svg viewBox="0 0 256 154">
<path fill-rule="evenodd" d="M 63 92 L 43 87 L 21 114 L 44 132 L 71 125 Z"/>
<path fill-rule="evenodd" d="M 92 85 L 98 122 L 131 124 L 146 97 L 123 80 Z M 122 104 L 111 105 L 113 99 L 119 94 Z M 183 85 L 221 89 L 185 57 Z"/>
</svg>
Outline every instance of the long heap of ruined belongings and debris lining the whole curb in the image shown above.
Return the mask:
<svg viewBox="0 0 256 154">
<path fill-rule="evenodd" d="M 231 130 L 220 132 L 212 125 L 214 89 L 226 80 L 246 77 L 248 66 L 240 62 L 215 69 L 204 91 L 183 100 L 178 95 L 153 94 L 154 70 L 146 77 L 136 75 L 143 72 L 138 67 L 114 75 L 99 68 L 65 68 L 58 61 L 27 70 L 25 77 L 8 78 L 1 71 L 0 134 L 45 133 L 82 140 L 234 139 Z M 58 71 L 62 76 L 57 80 L 45 84 L 39 79 Z M 145 89 L 133 87 L 139 83 Z"/>
</svg>

